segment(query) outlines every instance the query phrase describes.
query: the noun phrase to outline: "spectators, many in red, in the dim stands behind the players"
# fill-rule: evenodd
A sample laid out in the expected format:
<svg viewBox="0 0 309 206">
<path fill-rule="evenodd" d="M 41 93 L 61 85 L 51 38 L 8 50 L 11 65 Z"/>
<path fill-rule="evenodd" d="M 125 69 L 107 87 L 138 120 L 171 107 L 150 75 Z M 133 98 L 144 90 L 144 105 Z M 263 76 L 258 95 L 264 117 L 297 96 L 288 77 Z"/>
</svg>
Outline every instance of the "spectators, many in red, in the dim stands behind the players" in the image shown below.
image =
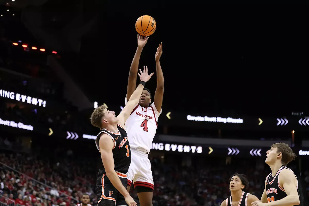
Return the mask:
<svg viewBox="0 0 309 206">
<path fill-rule="evenodd" d="M 81 195 L 87 193 L 90 204 L 96 205 L 94 181 L 101 164 L 99 154 L 90 153 L 93 158 L 87 156 L 83 159 L 83 153 L 76 149 L 60 148 L 46 157 L 40 155 L 45 149 L 38 148 L 35 149 L 37 153 L 1 153 L 0 162 L 5 165 L 0 165 L 0 201 L 10 206 L 74 206 L 79 203 Z M 84 148 L 84 151 L 89 148 Z M 45 152 L 49 153 L 49 150 Z M 175 161 L 177 158 L 179 161 Z M 192 159 L 186 163 L 181 162 L 182 156 L 163 158 L 150 155 L 155 185 L 154 206 L 218 206 L 230 195 L 228 180 L 234 172 L 246 174 L 250 182 L 248 192 L 260 197 L 265 177 L 270 172 L 268 167 L 253 159 L 236 158 L 232 162 L 222 158 L 205 160 L 198 156 Z M 308 170 L 304 174 L 307 183 L 304 191 L 309 195 Z M 138 200 L 134 189 L 131 194 Z"/>
</svg>

